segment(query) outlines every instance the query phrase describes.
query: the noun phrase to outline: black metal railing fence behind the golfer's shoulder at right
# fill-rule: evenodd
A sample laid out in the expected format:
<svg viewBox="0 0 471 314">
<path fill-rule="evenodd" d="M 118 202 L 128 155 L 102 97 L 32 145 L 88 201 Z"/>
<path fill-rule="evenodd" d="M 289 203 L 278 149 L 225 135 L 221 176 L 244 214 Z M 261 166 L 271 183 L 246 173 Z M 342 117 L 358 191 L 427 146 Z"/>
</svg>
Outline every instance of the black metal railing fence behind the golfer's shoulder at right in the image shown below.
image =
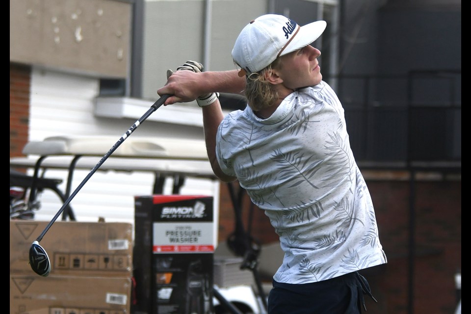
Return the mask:
<svg viewBox="0 0 471 314">
<path fill-rule="evenodd" d="M 359 164 L 461 170 L 461 70 L 335 80 Z"/>
</svg>

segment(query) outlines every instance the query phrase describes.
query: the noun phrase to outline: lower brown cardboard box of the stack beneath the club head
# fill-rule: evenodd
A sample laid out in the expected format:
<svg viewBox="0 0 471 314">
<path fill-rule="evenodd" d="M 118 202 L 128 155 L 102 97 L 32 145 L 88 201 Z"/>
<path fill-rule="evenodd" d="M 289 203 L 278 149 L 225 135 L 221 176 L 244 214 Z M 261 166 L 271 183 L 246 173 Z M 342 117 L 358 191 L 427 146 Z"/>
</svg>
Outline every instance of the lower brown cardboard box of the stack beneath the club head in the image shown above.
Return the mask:
<svg viewBox="0 0 471 314">
<path fill-rule="evenodd" d="M 10 314 L 130 314 L 131 279 L 10 274 Z"/>
</svg>

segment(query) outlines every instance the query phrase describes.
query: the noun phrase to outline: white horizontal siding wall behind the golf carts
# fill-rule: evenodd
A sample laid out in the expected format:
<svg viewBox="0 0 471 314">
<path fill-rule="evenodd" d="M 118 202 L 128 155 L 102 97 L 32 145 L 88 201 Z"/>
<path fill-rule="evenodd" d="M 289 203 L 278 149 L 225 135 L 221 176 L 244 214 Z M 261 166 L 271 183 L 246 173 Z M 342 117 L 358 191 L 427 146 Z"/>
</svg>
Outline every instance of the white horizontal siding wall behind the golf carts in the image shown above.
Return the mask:
<svg viewBox="0 0 471 314">
<path fill-rule="evenodd" d="M 118 140 L 135 121 L 96 118 L 93 112 L 98 89 L 99 81 L 96 78 L 34 68 L 31 75 L 29 140 L 40 141 L 57 135 L 104 134 L 116 135 Z M 110 148 L 104 147 L 103 155 Z M 100 158 L 97 157 L 97 163 Z M 71 192 L 88 173 L 84 170 L 74 172 Z M 47 170 L 45 177 L 62 179 L 60 189 L 65 191 L 67 171 Z M 70 205 L 77 221 L 97 221 L 99 217 L 104 217 L 106 222 L 133 224 L 134 196 L 150 195 L 153 183 L 152 173 L 97 171 L 78 191 Z M 172 180 L 167 180 L 164 194 L 171 194 L 172 184 Z M 180 192 L 211 195 L 215 205 L 219 202 L 219 183 L 211 180 L 188 178 Z M 35 214 L 36 220 L 50 221 L 63 205 L 52 191 L 44 191 L 40 200 L 42 206 Z"/>
</svg>

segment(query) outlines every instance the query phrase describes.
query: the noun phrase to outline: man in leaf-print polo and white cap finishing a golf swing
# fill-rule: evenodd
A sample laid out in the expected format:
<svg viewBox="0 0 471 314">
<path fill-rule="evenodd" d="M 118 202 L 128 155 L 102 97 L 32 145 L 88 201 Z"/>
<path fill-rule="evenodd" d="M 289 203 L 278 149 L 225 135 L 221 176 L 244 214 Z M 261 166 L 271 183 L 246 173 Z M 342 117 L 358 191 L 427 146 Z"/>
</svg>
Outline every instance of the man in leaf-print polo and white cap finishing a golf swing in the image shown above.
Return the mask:
<svg viewBox="0 0 471 314">
<path fill-rule="evenodd" d="M 364 293 L 372 295 L 358 271 L 387 262 L 343 107 L 311 45 L 325 27 L 263 15 L 235 41 L 240 71 L 201 72 L 188 61 L 177 70 L 189 71 L 170 73 L 157 90 L 173 95 L 164 105 L 196 99 L 203 107 L 214 173 L 238 180 L 279 235 L 285 257 L 269 314 L 361 313 Z M 245 95 L 246 108 L 224 116 L 217 92 Z"/>
</svg>

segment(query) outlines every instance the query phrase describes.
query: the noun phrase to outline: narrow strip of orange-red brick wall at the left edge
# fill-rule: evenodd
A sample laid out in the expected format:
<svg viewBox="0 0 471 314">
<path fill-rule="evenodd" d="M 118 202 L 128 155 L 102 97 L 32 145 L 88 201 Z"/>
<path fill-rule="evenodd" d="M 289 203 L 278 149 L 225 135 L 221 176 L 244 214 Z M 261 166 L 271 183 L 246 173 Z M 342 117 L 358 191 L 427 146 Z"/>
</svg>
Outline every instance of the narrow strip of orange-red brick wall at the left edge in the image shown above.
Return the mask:
<svg viewBox="0 0 471 314">
<path fill-rule="evenodd" d="M 10 63 L 10 157 L 23 156 L 28 140 L 29 66 Z"/>
</svg>

